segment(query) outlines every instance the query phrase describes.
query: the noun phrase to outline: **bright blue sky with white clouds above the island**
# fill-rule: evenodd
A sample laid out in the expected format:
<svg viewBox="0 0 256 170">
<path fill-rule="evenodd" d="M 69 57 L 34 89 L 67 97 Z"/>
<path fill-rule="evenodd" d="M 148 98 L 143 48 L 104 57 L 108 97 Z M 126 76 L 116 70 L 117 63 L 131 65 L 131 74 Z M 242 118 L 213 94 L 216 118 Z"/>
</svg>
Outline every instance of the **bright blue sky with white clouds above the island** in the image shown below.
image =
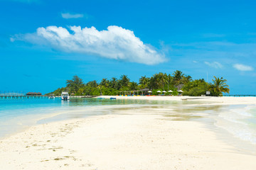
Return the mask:
<svg viewBox="0 0 256 170">
<path fill-rule="evenodd" d="M 0 91 L 181 70 L 256 94 L 256 1 L 0 0 Z"/>
</svg>

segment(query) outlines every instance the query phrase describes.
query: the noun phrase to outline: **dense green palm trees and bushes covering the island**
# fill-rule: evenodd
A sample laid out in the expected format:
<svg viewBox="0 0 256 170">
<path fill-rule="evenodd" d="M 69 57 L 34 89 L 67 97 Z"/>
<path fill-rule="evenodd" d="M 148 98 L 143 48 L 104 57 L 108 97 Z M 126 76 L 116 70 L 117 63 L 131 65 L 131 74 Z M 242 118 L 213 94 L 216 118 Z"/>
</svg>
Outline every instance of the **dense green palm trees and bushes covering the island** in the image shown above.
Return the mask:
<svg viewBox="0 0 256 170">
<path fill-rule="evenodd" d="M 89 81 L 84 83 L 80 77 L 75 75 L 73 79 L 67 80 L 67 86 L 59 88 L 49 94 L 59 96 L 62 91 L 68 91 L 69 94 L 82 96 L 100 96 L 100 95 L 117 95 L 119 91 L 138 91 L 140 89 L 149 89 L 152 95 L 157 95 L 156 91 L 173 91 L 166 92 L 164 95 L 177 95 L 178 90 L 183 91 L 183 96 L 201 96 L 206 91 L 210 91 L 210 96 L 222 96 L 229 93 L 230 89 L 227 80 L 214 77 L 212 83 L 206 82 L 204 79 L 193 80 L 191 76 L 183 74 L 176 70 L 173 74 L 159 72 L 152 77 L 142 76 L 138 82 L 130 81 L 127 75 L 122 75 L 119 79 L 112 77 L 111 79 L 102 79 L 100 83 L 97 81 Z M 139 92 L 141 93 L 141 92 Z"/>
</svg>

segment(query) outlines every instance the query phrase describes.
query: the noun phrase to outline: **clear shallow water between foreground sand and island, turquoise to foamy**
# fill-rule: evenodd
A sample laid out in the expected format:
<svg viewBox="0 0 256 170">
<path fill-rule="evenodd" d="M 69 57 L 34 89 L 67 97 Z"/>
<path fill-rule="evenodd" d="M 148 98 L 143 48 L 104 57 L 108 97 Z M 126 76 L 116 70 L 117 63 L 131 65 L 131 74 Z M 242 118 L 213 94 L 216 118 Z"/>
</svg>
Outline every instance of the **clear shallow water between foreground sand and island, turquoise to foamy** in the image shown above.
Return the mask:
<svg viewBox="0 0 256 170">
<path fill-rule="evenodd" d="M 60 98 L 0 99 L 0 137 L 31 125 L 105 114 L 158 114 L 166 120 L 196 120 L 256 145 L 256 107 L 220 106 L 201 101 Z"/>
</svg>

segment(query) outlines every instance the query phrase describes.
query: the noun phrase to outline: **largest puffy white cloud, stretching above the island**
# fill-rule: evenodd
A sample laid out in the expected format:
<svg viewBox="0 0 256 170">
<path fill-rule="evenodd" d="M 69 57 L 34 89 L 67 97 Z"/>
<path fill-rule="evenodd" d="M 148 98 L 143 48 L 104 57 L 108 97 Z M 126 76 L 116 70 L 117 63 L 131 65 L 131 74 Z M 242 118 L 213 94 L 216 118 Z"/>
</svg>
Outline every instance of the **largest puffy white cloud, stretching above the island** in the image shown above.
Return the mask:
<svg viewBox="0 0 256 170">
<path fill-rule="evenodd" d="M 159 64 L 166 61 L 163 52 L 144 44 L 132 30 L 118 26 L 109 26 L 107 30 L 100 31 L 95 27 L 70 26 L 70 30 L 72 33 L 63 27 L 48 26 L 38 28 L 36 33 L 20 35 L 16 40 L 50 46 L 64 52 L 99 55 L 142 64 Z"/>
</svg>

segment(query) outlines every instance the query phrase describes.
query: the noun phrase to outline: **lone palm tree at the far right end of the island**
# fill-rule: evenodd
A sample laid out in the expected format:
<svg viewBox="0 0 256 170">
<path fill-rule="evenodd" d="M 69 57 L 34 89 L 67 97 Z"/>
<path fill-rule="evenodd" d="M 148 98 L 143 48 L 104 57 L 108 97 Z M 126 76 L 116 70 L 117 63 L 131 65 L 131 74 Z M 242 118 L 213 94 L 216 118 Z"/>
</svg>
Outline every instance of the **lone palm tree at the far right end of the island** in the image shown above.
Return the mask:
<svg viewBox="0 0 256 170">
<path fill-rule="evenodd" d="M 226 84 L 227 80 L 221 78 L 214 77 L 213 84 L 210 84 L 210 91 L 212 91 L 216 96 L 221 96 L 222 92 L 229 93 L 230 89 L 228 88 L 228 84 Z"/>
</svg>

